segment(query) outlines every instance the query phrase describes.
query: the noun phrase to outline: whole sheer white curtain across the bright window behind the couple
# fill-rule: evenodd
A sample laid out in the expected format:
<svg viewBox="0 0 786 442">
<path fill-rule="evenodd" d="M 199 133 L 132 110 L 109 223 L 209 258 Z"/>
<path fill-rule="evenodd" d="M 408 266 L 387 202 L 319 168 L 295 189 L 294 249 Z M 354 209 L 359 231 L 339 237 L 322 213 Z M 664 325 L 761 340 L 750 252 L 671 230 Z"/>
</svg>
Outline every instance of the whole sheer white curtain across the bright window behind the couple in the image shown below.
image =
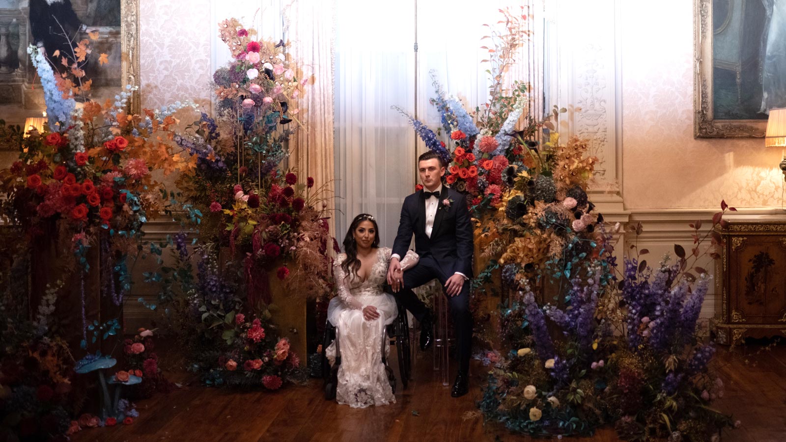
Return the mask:
<svg viewBox="0 0 786 442">
<path fill-rule="evenodd" d="M 383 4 L 379 4 L 383 3 Z M 416 6 L 417 5 L 417 6 Z M 435 96 L 430 71 L 446 94 L 456 95 L 474 110 L 488 99 L 486 69 L 492 46 L 483 24 L 498 27 L 498 9 L 527 14 L 532 31 L 507 74 L 542 90 L 543 0 L 367 2 L 337 0 L 336 10 L 336 234 L 343 239 L 354 215 L 371 213 L 380 223 L 383 245 L 391 245 L 401 204 L 413 192 L 417 154 L 425 150 L 404 116 L 391 105 L 416 114 L 437 131 L 439 112 L 429 104 Z M 417 9 L 416 9 L 417 8 Z M 416 17 L 417 13 L 417 17 Z M 417 109 L 414 43 L 417 20 Z M 542 117 L 542 96 L 531 112 Z M 443 134 L 443 140 L 446 134 Z"/>
</svg>

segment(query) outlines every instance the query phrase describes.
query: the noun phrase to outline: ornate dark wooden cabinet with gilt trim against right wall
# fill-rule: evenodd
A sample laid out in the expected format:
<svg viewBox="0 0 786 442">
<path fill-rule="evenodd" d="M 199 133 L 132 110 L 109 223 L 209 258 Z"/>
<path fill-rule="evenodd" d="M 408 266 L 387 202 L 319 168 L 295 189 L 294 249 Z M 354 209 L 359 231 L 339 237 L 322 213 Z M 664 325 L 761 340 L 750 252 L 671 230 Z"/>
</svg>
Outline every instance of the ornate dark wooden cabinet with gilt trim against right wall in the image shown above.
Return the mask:
<svg viewBox="0 0 786 442">
<path fill-rule="evenodd" d="M 722 297 L 715 303 L 718 343 L 786 336 L 786 222 L 733 222 L 720 233 L 725 245 Z"/>
</svg>

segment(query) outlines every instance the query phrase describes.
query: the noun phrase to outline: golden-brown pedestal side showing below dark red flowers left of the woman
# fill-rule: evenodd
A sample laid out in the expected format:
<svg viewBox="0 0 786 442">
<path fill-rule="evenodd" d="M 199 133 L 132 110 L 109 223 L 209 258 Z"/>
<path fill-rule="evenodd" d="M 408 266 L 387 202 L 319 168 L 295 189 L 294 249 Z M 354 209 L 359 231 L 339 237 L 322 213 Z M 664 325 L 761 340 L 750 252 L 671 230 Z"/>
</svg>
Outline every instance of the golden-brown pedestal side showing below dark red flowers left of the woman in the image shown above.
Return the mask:
<svg viewBox="0 0 786 442">
<path fill-rule="evenodd" d="M 270 281 L 270 313 L 278 327 L 280 337 L 289 340 L 290 350 L 302 358 L 307 355 L 306 333 L 306 296 L 304 293 L 291 293 L 287 280 L 277 277 L 277 268 L 267 272 Z M 305 360 L 305 359 L 304 359 Z"/>
</svg>

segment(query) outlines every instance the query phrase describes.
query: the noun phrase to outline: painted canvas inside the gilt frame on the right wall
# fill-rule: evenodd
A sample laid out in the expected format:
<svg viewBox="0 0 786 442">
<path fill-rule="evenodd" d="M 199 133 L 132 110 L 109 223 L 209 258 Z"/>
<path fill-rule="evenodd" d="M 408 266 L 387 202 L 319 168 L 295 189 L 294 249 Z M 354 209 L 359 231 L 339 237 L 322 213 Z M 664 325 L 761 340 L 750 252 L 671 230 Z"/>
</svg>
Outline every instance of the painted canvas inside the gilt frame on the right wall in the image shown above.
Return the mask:
<svg viewBox="0 0 786 442">
<path fill-rule="evenodd" d="M 714 120 L 786 107 L 786 0 L 712 0 Z"/>
</svg>

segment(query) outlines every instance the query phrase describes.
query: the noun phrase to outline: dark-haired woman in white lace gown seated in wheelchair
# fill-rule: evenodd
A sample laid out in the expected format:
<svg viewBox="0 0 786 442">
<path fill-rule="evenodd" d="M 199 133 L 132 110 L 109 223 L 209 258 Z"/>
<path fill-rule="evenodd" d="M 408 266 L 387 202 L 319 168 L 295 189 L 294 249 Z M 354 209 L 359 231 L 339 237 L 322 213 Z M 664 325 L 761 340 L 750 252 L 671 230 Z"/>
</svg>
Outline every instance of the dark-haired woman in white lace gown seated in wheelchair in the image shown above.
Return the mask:
<svg viewBox="0 0 786 442">
<path fill-rule="evenodd" d="M 382 363 L 385 326 L 398 315 L 395 298 L 384 293 L 391 249 L 380 248 L 378 227 L 372 215 L 362 213 L 350 224 L 341 253 L 334 264 L 338 296 L 330 300 L 328 320 L 336 326 L 341 356 L 336 400 L 354 408 L 395 403 Z M 402 270 L 413 267 L 417 253 L 410 250 L 401 261 Z M 399 278 L 401 274 L 399 274 Z M 336 358 L 336 341 L 326 349 Z"/>
</svg>

